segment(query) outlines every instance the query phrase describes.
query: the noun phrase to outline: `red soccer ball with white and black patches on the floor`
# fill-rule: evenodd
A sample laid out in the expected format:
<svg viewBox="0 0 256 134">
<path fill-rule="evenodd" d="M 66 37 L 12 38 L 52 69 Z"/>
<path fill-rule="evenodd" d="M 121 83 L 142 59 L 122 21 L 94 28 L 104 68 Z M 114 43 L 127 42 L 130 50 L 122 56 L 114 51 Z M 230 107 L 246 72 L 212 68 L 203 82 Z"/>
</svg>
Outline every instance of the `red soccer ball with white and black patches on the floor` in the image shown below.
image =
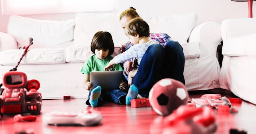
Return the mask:
<svg viewBox="0 0 256 134">
<path fill-rule="evenodd" d="M 158 114 L 167 116 L 180 105 L 188 103 L 188 91 L 180 81 L 166 78 L 152 87 L 148 98 L 152 108 Z"/>
</svg>

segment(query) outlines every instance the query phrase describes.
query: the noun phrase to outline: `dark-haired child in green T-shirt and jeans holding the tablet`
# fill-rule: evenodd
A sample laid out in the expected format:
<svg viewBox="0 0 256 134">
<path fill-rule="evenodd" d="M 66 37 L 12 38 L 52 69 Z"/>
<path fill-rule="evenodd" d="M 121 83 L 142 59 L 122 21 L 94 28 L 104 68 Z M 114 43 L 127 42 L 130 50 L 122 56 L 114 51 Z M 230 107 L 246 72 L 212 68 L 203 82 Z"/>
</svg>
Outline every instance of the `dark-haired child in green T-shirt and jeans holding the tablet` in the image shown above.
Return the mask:
<svg viewBox="0 0 256 134">
<path fill-rule="evenodd" d="M 91 43 L 91 51 L 95 55 L 87 59 L 81 69 L 81 72 L 85 74 L 84 88 L 90 91 L 86 104 L 92 107 L 98 106 L 104 101 L 105 97 L 117 104 L 125 104 L 127 93 L 124 92 L 126 89 L 124 82 L 120 84 L 120 89 L 113 89 L 108 92 L 102 92 L 100 86 L 90 90 L 93 84 L 89 81 L 90 72 L 104 71 L 104 67 L 113 59 L 111 55 L 114 52 L 114 43 L 111 34 L 102 31 L 95 33 Z M 122 71 L 123 69 L 119 64 L 116 64 L 113 66 L 113 70 Z"/>
</svg>

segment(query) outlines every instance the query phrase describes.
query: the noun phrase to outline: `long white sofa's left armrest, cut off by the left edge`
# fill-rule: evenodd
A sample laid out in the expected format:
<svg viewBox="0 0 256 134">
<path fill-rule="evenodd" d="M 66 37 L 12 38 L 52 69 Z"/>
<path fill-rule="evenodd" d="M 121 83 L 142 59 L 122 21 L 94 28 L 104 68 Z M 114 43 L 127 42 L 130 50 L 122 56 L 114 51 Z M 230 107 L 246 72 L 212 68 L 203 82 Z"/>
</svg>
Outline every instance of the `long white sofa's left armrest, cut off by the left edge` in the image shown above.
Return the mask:
<svg viewBox="0 0 256 134">
<path fill-rule="evenodd" d="M 17 41 L 8 33 L 0 32 L 0 51 L 18 49 Z"/>
</svg>

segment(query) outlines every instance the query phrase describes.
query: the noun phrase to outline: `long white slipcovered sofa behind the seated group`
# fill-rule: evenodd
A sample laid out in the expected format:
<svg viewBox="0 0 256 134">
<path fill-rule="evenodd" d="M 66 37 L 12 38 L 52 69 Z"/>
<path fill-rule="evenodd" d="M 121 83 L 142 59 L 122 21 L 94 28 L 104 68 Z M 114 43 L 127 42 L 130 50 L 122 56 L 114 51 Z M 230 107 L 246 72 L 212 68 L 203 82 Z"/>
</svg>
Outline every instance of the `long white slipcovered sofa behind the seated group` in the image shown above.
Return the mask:
<svg viewBox="0 0 256 134">
<path fill-rule="evenodd" d="M 28 80 L 40 82 L 39 92 L 43 99 L 61 99 L 66 95 L 86 98 L 88 91 L 83 88 L 84 76 L 80 69 L 92 55 L 90 42 L 94 33 L 108 31 L 112 34 L 116 46 L 114 55 L 128 41 L 118 15 L 116 12 L 78 13 L 73 20 L 65 21 L 10 16 L 8 32 L 0 32 L 1 76 L 15 67 L 23 53 L 18 48 L 26 46 L 28 38 L 32 37 L 34 44 L 17 71 L 26 73 Z M 219 87 L 220 66 L 216 48 L 221 41 L 220 24 L 206 22 L 196 26 L 194 13 L 142 18 L 148 22 L 151 33 L 168 33 L 182 44 L 188 91 Z"/>
</svg>

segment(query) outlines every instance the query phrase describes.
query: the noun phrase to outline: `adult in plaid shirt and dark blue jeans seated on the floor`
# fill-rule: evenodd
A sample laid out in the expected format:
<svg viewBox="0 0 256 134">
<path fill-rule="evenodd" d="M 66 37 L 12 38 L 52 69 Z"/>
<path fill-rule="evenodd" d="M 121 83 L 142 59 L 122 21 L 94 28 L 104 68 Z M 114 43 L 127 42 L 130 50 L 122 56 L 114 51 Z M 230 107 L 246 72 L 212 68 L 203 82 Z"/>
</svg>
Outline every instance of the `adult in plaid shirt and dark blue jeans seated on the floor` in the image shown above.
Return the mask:
<svg viewBox="0 0 256 134">
<path fill-rule="evenodd" d="M 122 12 L 119 18 L 122 28 L 124 29 L 130 20 L 137 17 L 139 15 L 133 7 Z M 172 78 L 185 85 L 183 75 L 185 60 L 181 45 L 177 41 L 173 41 L 166 33 L 150 33 L 150 38 L 158 41 L 161 45 L 153 44 L 148 47 L 132 80 L 132 85 L 137 87 L 142 97 L 148 97 L 148 92 L 160 79 Z M 131 46 L 133 44 L 130 41 L 122 45 L 122 52 Z M 133 60 L 124 63 L 126 77 L 134 69 L 134 63 Z"/>
</svg>

